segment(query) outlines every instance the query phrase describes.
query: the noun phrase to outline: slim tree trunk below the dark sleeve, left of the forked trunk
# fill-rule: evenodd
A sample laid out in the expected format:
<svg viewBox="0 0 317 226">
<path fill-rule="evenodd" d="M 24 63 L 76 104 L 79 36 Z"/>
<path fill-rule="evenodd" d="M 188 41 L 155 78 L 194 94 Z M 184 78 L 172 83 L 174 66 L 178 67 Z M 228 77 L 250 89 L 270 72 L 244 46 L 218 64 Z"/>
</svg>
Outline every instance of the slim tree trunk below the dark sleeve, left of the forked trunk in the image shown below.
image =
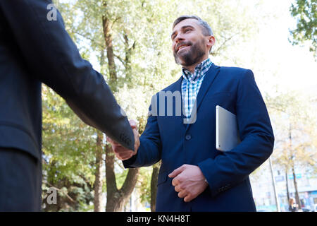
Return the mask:
<svg viewBox="0 0 317 226">
<path fill-rule="evenodd" d="M 103 133 L 97 131 L 96 172 L 94 179 L 94 212 L 102 211 L 102 138 Z"/>
</svg>

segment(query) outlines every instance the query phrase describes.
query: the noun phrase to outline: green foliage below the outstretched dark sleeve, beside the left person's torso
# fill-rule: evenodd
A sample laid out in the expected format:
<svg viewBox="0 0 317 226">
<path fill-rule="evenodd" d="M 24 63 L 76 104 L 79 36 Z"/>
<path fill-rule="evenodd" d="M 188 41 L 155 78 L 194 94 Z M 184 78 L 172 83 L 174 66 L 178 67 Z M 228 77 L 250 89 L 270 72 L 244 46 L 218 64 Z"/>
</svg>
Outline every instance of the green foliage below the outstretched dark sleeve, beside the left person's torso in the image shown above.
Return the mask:
<svg viewBox="0 0 317 226">
<path fill-rule="evenodd" d="M 49 187 L 60 189 L 60 206 L 54 210 L 79 210 L 93 197 L 95 131 L 82 123 L 66 102 L 45 85 L 42 97 L 43 195 Z M 46 206 L 44 210 L 53 207 Z"/>
</svg>

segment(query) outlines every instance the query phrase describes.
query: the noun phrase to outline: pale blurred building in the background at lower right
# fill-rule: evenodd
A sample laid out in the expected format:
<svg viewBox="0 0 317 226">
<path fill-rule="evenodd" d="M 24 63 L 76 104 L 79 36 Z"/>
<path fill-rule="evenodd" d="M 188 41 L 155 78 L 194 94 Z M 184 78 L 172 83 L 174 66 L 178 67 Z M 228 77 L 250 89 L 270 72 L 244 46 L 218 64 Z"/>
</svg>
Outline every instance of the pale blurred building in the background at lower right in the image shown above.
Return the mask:
<svg viewBox="0 0 317 226">
<path fill-rule="evenodd" d="M 297 189 L 299 192 L 300 205 L 303 211 L 317 211 L 317 176 L 312 170 L 305 168 L 295 169 Z M 278 196 L 280 211 L 288 211 L 287 186 L 289 196 L 295 197 L 294 177 L 292 172 L 282 173 L 278 169 L 273 169 L 275 179 L 275 189 Z M 286 181 L 287 180 L 287 181 Z M 268 161 L 261 166 L 261 172 L 256 175 L 251 174 L 251 186 L 258 211 L 277 211 L 275 201 L 273 180 Z M 298 203 L 299 204 L 299 203 Z"/>
</svg>

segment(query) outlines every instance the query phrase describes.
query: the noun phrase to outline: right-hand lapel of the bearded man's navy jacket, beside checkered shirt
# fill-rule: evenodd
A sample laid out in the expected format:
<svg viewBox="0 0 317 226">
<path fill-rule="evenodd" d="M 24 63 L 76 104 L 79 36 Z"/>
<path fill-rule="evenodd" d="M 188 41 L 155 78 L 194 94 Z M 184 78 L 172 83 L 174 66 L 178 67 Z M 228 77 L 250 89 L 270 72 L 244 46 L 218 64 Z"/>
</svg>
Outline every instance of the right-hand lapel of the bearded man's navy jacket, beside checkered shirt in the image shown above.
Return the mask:
<svg viewBox="0 0 317 226">
<path fill-rule="evenodd" d="M 209 88 L 211 87 L 211 84 L 215 80 L 216 76 L 219 73 L 220 66 L 216 66 L 215 64 L 212 64 L 210 69 L 207 71 L 206 76 L 204 78 L 204 81 L 201 83 L 201 87 L 199 88 L 199 92 L 196 98 L 196 101 L 194 105 L 196 105 L 196 111 L 194 110 L 195 107 L 193 107 L 191 118 L 195 119 L 197 118 L 197 112 L 199 110 L 199 107 L 201 105 L 201 102 L 204 100 L 204 97 L 206 93 L 208 92 Z M 186 130 L 189 128 L 190 124 L 185 124 Z"/>
</svg>

